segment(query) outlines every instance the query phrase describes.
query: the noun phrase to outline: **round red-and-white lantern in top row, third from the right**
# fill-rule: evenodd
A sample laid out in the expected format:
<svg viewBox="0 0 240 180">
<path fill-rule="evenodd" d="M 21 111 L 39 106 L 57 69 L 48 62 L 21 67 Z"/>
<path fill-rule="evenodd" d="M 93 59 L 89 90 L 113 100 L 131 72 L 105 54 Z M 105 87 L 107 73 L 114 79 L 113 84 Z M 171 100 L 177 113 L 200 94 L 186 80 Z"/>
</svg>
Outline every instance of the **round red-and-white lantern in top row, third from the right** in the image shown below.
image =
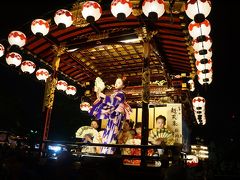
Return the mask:
<svg viewBox="0 0 240 180">
<path fill-rule="evenodd" d="M 132 13 L 132 3 L 129 0 L 113 0 L 111 12 L 119 21 L 124 21 Z"/>
</svg>

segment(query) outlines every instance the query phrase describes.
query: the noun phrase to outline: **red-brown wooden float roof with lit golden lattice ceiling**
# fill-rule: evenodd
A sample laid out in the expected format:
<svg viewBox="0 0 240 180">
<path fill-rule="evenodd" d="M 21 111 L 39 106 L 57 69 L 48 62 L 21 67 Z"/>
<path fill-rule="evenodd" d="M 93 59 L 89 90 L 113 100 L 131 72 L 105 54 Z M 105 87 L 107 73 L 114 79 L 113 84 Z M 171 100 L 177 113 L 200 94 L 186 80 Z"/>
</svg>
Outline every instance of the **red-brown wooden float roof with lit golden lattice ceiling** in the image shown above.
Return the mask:
<svg viewBox="0 0 240 180">
<path fill-rule="evenodd" d="M 44 66 L 51 69 L 56 56 L 53 47 L 62 46 L 66 50 L 61 55 L 58 74 L 67 81 L 83 86 L 99 76 L 111 85 L 121 74 L 127 77 L 129 85 L 138 86 L 142 84 L 143 41 L 122 41 L 151 37 L 151 82 L 168 82 L 172 76 L 182 73 L 195 75 L 191 38 L 187 30 L 190 21 L 184 12 L 185 2 L 165 1 L 164 15 L 152 22 L 141 13 L 141 0 L 130 1 L 133 3 L 133 13 L 125 21 L 119 21 L 111 14 L 109 0 L 100 1 L 102 16 L 92 24 L 81 17 L 79 1 L 67 7 L 74 15 L 74 23 L 68 28 L 58 28 L 53 20 L 54 13 L 48 13 L 45 19 L 48 18 L 51 26 L 46 36 L 33 35 L 30 23 L 21 30 L 27 36 L 23 52 L 34 57 L 37 68 Z"/>
</svg>

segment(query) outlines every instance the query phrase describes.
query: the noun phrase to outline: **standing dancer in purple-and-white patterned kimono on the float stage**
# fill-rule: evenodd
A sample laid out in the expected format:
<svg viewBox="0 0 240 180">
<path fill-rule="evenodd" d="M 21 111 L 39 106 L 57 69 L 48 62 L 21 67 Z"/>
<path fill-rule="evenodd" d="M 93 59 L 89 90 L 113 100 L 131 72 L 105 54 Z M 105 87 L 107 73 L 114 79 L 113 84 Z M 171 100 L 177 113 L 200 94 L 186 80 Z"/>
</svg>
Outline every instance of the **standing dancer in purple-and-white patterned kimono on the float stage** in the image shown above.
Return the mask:
<svg viewBox="0 0 240 180">
<path fill-rule="evenodd" d="M 117 135 L 121 129 L 122 121 L 130 119 L 131 107 L 126 102 L 126 97 L 123 92 L 124 78 L 117 78 L 115 81 L 115 91 L 112 95 L 106 96 L 94 87 L 97 93 L 97 100 L 93 103 L 90 115 L 95 116 L 97 119 L 107 119 L 107 126 L 104 130 L 102 143 L 115 144 Z M 96 81 L 95 81 L 96 82 Z M 96 85 L 96 84 L 95 84 Z M 113 154 L 115 148 L 102 147 L 102 154 Z"/>
</svg>

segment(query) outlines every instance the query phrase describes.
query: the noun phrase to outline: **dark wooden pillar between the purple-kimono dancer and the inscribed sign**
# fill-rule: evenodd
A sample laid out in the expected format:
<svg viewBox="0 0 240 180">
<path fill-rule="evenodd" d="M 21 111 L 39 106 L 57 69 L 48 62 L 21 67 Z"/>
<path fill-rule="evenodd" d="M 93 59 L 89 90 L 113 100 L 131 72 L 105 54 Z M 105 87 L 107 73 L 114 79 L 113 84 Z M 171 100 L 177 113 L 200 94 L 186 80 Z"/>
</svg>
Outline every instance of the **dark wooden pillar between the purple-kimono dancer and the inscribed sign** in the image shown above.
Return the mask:
<svg viewBox="0 0 240 180">
<path fill-rule="evenodd" d="M 142 73 L 142 86 L 143 86 L 143 92 L 142 92 L 142 139 L 141 144 L 142 145 L 148 145 L 148 122 L 149 122 L 149 100 L 150 100 L 150 67 L 149 67 L 149 55 L 150 55 L 150 43 L 148 40 L 144 41 L 143 44 L 143 53 L 144 53 L 144 59 L 143 59 L 143 73 Z M 141 166 L 146 166 L 146 158 L 147 150 L 142 149 L 142 160 L 141 160 Z"/>
</svg>

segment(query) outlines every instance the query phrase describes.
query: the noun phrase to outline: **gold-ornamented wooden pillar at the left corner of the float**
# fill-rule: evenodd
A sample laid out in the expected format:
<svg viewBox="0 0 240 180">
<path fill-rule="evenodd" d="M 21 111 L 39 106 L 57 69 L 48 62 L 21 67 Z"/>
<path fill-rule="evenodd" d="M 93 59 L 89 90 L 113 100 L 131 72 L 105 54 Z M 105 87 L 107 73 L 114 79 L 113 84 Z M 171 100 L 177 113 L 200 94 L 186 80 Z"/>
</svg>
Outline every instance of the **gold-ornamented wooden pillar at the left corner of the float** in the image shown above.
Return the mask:
<svg viewBox="0 0 240 180">
<path fill-rule="evenodd" d="M 42 143 L 40 146 L 41 154 L 44 152 L 45 149 L 45 141 L 48 140 L 48 133 L 49 133 L 49 127 L 50 127 L 50 121 L 51 121 L 51 113 L 53 108 L 53 102 L 54 102 L 54 92 L 57 85 L 57 72 L 60 64 L 60 56 L 64 53 L 66 48 L 63 47 L 56 47 L 54 46 L 53 51 L 56 54 L 56 57 L 53 60 L 52 68 L 53 68 L 53 74 L 47 78 L 46 84 L 45 84 L 45 92 L 44 92 L 44 100 L 43 100 L 43 121 L 44 121 L 44 127 L 43 127 L 43 135 L 42 135 Z"/>
</svg>

